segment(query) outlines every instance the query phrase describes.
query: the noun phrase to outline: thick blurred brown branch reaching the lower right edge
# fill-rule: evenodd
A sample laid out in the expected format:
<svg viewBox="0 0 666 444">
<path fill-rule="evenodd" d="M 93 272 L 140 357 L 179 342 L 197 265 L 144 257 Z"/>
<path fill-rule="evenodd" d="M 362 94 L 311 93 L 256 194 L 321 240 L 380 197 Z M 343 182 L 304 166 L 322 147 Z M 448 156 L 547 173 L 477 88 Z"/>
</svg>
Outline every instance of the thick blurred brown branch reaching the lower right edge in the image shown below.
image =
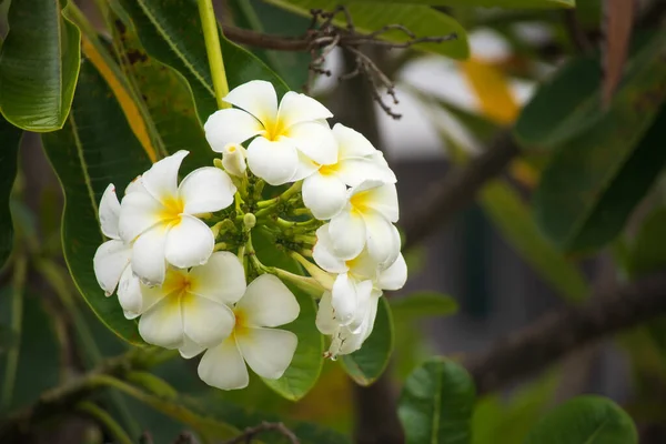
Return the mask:
<svg viewBox="0 0 666 444">
<path fill-rule="evenodd" d="M 464 364 L 487 393 L 553 364 L 605 335 L 666 314 L 666 272 L 599 293 L 583 306 L 549 313 Z"/>
</svg>

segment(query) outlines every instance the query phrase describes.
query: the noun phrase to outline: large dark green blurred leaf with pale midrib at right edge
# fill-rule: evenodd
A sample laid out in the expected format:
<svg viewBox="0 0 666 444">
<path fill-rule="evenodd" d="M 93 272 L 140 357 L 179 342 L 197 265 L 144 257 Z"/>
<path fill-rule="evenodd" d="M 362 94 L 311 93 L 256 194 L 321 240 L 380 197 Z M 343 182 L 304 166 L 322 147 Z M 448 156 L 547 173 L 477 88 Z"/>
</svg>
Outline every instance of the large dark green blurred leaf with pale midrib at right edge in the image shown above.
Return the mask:
<svg viewBox="0 0 666 444">
<path fill-rule="evenodd" d="M 568 252 L 610 241 L 666 163 L 666 32 L 644 47 L 610 105 L 558 147 L 534 198 L 544 233 Z"/>
</svg>

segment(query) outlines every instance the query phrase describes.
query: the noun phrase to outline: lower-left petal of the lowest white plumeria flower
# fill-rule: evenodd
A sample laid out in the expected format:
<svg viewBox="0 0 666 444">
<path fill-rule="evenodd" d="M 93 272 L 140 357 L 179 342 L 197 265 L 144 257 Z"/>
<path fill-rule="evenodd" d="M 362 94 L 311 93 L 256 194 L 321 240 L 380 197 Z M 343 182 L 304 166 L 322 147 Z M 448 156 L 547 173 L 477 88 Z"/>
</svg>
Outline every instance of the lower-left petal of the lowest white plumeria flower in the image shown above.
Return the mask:
<svg viewBox="0 0 666 444">
<path fill-rule="evenodd" d="M 198 373 L 201 381 L 222 390 L 244 389 L 250 382 L 234 335 L 203 354 Z"/>
</svg>

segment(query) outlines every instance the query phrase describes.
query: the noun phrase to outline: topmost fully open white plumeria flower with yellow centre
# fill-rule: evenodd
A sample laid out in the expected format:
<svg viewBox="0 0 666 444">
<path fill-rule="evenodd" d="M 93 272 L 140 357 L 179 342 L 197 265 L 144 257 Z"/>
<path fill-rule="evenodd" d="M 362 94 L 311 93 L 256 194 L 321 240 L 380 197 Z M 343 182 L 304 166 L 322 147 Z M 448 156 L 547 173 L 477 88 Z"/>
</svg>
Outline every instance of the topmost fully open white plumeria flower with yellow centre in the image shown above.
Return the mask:
<svg viewBox="0 0 666 444">
<path fill-rule="evenodd" d="M 224 101 L 234 109 L 215 111 L 205 124 L 205 138 L 213 151 L 229 143 L 248 147 L 250 170 L 271 185 L 303 179 L 314 169 L 312 162 L 331 164 L 337 147 L 325 119 L 333 117 L 316 100 L 293 91 L 282 98 L 270 82 L 252 80 L 234 88 Z"/>
</svg>

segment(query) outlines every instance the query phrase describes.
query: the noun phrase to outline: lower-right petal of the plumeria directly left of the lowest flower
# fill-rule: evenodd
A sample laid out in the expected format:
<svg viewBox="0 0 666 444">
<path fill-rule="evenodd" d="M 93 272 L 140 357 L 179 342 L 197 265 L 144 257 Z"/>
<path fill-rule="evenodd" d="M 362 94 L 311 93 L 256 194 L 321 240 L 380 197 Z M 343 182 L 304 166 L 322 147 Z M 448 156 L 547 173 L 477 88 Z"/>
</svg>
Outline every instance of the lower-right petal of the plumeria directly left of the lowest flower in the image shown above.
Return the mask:
<svg viewBox="0 0 666 444">
<path fill-rule="evenodd" d="M 199 345 L 215 346 L 233 331 L 235 317 L 226 305 L 188 294 L 182 302 L 185 334 Z"/>
</svg>

